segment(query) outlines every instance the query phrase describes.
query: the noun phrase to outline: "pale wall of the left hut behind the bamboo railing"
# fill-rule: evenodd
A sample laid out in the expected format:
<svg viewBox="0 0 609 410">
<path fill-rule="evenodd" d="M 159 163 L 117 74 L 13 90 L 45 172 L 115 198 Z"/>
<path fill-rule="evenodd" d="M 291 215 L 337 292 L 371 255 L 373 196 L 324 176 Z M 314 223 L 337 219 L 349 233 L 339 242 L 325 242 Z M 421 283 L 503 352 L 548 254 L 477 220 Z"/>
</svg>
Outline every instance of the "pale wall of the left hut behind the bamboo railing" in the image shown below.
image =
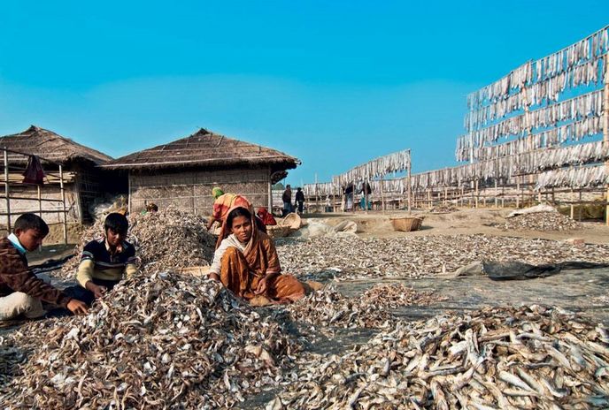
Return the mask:
<svg viewBox="0 0 609 410">
<path fill-rule="evenodd" d="M 4 191 L 3 191 L 4 194 Z M 33 198 L 35 201 L 30 200 L 11 200 L 11 224 L 15 223 L 15 220 L 20 214 L 26 212 L 32 212 L 38 214 L 38 191 L 35 186 L 11 186 L 10 196 Z M 43 199 L 61 200 L 61 190 L 56 185 L 42 186 L 41 197 Z M 61 202 L 50 202 L 42 201 L 43 210 L 58 211 L 63 209 Z M 67 222 L 77 223 L 81 221 L 81 211 L 78 202 L 78 194 L 76 193 L 75 184 L 66 184 L 66 209 Z M 6 213 L 6 200 L 0 199 L 0 212 Z M 61 212 L 42 213 L 42 218 L 47 224 L 63 224 L 63 216 Z M 0 216 L 0 226 L 6 226 L 6 216 Z"/>
</svg>

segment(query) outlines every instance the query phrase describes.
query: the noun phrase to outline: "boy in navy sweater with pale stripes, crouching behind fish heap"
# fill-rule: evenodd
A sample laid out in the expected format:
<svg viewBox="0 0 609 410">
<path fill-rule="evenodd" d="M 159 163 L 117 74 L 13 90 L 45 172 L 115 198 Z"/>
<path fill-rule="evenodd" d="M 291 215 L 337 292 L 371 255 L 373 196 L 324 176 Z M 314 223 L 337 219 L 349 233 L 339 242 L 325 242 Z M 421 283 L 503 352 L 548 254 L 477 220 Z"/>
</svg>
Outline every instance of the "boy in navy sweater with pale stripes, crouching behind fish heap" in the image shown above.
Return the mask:
<svg viewBox="0 0 609 410">
<path fill-rule="evenodd" d="M 82 249 L 81 264 L 76 274 L 81 287 L 73 286 L 71 291 L 89 305 L 111 290 L 120 279 L 137 271 L 135 247 L 125 240 L 128 227 L 126 216 L 109 214 L 104 221 L 104 238 L 91 240 Z"/>
</svg>

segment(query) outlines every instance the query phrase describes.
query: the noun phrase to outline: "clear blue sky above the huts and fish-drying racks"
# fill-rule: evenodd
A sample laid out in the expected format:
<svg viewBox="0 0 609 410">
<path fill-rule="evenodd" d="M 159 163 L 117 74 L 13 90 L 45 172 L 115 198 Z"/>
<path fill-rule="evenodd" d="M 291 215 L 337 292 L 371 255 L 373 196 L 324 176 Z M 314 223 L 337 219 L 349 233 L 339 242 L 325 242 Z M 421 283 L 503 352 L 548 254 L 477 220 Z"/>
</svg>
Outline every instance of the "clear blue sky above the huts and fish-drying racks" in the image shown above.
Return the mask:
<svg viewBox="0 0 609 410">
<path fill-rule="evenodd" d="M 0 3 L 0 134 L 123 156 L 208 128 L 320 181 L 412 148 L 454 164 L 466 94 L 609 22 L 609 3 Z"/>
</svg>

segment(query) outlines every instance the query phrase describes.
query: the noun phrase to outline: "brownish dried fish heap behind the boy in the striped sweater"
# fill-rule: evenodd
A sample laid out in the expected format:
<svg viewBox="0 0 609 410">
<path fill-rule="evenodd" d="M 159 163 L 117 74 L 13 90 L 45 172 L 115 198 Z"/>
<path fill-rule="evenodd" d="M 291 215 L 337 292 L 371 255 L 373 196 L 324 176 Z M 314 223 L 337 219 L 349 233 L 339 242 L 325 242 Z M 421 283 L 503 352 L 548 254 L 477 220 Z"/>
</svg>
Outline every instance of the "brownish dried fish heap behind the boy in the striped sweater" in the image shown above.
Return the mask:
<svg viewBox="0 0 609 410">
<path fill-rule="evenodd" d="M 212 262 L 216 239 L 204 228 L 203 216 L 177 209 L 129 216 L 127 240 L 134 244 L 142 267 L 154 264 L 156 270 L 167 270 Z M 80 262 L 82 248 L 92 239 L 104 235 L 104 221 L 89 227 L 81 236 L 77 257 L 64 265 L 62 277 L 73 277 Z"/>
</svg>

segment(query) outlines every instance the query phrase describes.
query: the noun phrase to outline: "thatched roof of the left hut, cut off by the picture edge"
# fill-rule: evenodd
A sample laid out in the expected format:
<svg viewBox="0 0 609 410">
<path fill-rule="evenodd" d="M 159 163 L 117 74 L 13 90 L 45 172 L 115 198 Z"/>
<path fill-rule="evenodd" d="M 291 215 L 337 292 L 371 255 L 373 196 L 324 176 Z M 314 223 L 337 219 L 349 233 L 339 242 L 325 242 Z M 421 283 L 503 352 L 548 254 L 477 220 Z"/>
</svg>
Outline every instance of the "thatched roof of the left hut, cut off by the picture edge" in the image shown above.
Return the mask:
<svg viewBox="0 0 609 410">
<path fill-rule="evenodd" d="M 83 160 L 99 165 L 112 160 L 112 156 L 106 156 L 95 149 L 35 125 L 30 126 L 23 133 L 0 137 L 0 148 L 42 156 L 62 165 Z"/>
</svg>

